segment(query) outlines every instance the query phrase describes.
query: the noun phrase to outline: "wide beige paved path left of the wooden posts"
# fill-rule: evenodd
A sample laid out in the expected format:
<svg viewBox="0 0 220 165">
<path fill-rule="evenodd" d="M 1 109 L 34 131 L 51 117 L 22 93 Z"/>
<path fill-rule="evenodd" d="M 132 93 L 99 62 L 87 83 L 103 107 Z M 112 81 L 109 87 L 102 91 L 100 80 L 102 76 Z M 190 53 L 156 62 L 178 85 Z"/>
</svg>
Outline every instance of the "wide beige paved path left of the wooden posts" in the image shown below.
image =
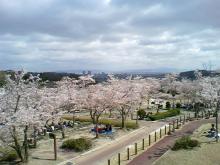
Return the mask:
<svg viewBox="0 0 220 165">
<path fill-rule="evenodd" d="M 135 130 L 128 135 L 124 135 L 98 149 L 89 151 L 81 156 L 67 160 L 60 165 L 65 165 L 67 162 L 73 162 L 77 165 L 105 165 L 107 160 L 112 157 L 112 155 L 117 154 L 120 150 L 125 149 L 126 146 L 134 144 L 134 142 L 147 137 L 149 133 L 157 130 L 163 125 L 167 124 L 165 122 L 144 122 L 144 126 L 138 130 Z"/>
</svg>

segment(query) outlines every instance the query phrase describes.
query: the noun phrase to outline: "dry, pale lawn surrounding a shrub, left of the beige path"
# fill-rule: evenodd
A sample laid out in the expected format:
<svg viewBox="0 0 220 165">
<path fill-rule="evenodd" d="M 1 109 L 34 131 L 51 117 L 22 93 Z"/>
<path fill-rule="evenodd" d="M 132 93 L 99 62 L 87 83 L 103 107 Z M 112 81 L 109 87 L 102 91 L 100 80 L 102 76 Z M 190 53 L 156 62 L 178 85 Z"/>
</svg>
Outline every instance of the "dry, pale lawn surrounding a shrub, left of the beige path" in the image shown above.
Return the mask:
<svg viewBox="0 0 220 165">
<path fill-rule="evenodd" d="M 27 165 L 55 165 L 59 164 L 62 161 L 75 158 L 80 156 L 81 154 L 88 152 L 75 152 L 74 150 L 66 150 L 62 149 L 61 145 L 63 141 L 67 139 L 77 139 L 81 137 L 86 137 L 92 140 L 92 149 L 98 148 L 106 143 L 110 143 L 114 140 L 122 136 L 126 136 L 130 133 L 130 131 L 124 131 L 119 128 L 115 128 L 116 131 L 113 136 L 111 135 L 100 135 L 98 139 L 94 138 L 95 134 L 91 133 L 89 130 L 93 127 L 93 124 L 87 125 L 84 128 L 76 129 L 76 128 L 66 128 L 65 134 L 66 138 L 62 139 L 61 132 L 57 132 L 57 151 L 58 151 L 58 159 L 56 161 L 53 160 L 54 152 L 53 152 L 53 139 L 49 139 L 46 136 L 44 139 L 38 142 L 38 146 L 35 149 L 30 149 L 30 157 Z M 117 141 L 116 141 L 117 142 Z M 1 163 L 0 163 L 1 164 Z"/>
</svg>

